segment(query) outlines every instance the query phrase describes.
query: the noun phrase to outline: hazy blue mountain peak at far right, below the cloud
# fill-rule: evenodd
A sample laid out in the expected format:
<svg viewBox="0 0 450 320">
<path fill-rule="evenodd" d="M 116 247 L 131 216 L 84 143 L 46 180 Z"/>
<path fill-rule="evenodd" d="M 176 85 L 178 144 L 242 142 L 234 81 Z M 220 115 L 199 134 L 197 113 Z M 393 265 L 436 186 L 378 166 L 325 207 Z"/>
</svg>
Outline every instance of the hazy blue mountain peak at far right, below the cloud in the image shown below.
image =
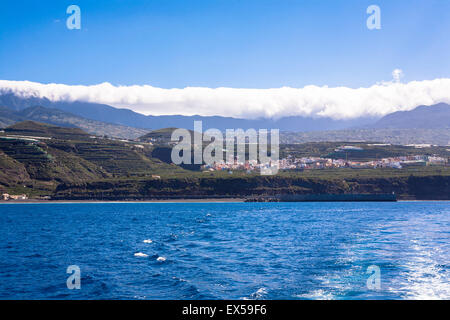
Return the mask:
<svg viewBox="0 0 450 320">
<path fill-rule="evenodd" d="M 419 106 L 411 111 L 388 114 L 373 126 L 376 129 L 445 129 L 450 128 L 450 105 L 439 103 Z"/>
</svg>

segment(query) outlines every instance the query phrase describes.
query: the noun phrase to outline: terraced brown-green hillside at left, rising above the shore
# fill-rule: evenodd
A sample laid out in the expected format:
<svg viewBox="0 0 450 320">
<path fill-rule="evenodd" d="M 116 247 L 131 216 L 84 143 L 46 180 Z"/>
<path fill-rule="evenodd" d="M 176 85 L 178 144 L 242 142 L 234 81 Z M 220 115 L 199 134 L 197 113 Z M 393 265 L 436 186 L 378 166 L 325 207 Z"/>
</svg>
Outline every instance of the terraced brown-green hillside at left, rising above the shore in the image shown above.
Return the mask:
<svg viewBox="0 0 450 320">
<path fill-rule="evenodd" d="M 183 169 L 148 158 L 151 145 L 89 136 L 78 128 L 26 121 L 0 136 L 0 190 L 51 193 L 60 183 L 151 176 Z M 42 191 L 42 190 L 40 190 Z M 45 193 L 45 192 L 44 192 Z"/>
</svg>

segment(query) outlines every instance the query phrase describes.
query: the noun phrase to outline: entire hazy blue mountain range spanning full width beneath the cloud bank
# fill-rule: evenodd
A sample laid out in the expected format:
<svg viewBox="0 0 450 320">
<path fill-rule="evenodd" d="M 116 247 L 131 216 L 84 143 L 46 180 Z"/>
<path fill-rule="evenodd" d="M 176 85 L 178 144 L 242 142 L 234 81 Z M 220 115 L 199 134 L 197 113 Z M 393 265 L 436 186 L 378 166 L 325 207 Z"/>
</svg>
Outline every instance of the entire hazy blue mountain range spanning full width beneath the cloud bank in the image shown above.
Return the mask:
<svg viewBox="0 0 450 320">
<path fill-rule="evenodd" d="M 30 107 L 38 104 L 47 109 L 42 112 L 30 112 Z M 323 135 L 342 130 L 385 130 L 386 129 L 430 129 L 446 130 L 450 128 L 450 106 L 439 103 L 431 106 L 418 106 L 410 111 L 398 111 L 382 118 L 359 118 L 354 120 L 333 120 L 329 118 L 285 117 L 281 119 L 239 119 L 222 116 L 182 116 L 162 115 L 146 116 L 129 109 L 115 108 L 106 104 L 74 102 L 52 102 L 47 98 L 29 97 L 23 98 L 13 93 L 0 92 L 0 106 L 9 107 L 12 110 L 0 108 L 0 126 L 6 126 L 21 120 L 35 120 L 57 125 L 77 126 L 90 133 L 105 134 L 105 126 L 108 127 L 107 135 L 122 138 L 138 138 L 149 131 L 175 127 L 193 129 L 194 121 L 202 121 L 203 130 L 217 128 L 225 131 L 230 128 L 242 129 L 280 129 L 284 132 L 310 133 Z M 15 110 L 15 111 L 14 111 Z M 32 109 L 31 109 L 32 110 Z M 51 111 L 50 111 L 51 110 Z M 59 110 L 59 111 L 58 111 Z M 66 112 L 65 121 L 55 120 L 58 112 Z M 50 114 L 48 114 L 50 113 Z M 69 115 L 70 114 L 70 115 Z M 33 116 L 32 116 L 33 115 Z M 60 114 L 63 115 L 63 114 Z M 78 118 L 77 118 L 78 117 Z M 83 118 L 84 120 L 80 119 Z M 97 121 L 97 122 L 96 122 Z M 111 134 L 114 130 L 122 131 L 121 134 Z M 130 132 L 132 132 L 130 134 Z M 415 131 L 410 131 L 415 135 Z M 420 130 L 417 131 L 420 134 Z M 322 140 L 322 139 L 321 139 Z M 414 140 L 414 136 L 409 140 Z M 430 141 L 435 140 L 434 138 Z M 443 143 L 439 139 L 439 143 Z M 383 139 L 383 141 L 385 141 Z"/>
</svg>

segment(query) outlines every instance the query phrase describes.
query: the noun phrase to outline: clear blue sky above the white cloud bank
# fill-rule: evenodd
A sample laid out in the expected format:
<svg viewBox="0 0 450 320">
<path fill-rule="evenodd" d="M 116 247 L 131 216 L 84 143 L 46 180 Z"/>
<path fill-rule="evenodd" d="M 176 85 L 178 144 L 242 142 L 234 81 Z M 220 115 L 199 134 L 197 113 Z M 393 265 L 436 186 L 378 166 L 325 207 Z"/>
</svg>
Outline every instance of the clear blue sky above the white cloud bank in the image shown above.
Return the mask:
<svg viewBox="0 0 450 320">
<path fill-rule="evenodd" d="M 81 30 L 66 8 L 81 8 Z M 368 30 L 366 8 L 381 8 Z M 3 0 L 0 79 L 160 88 L 368 87 L 450 75 L 448 0 Z"/>
</svg>

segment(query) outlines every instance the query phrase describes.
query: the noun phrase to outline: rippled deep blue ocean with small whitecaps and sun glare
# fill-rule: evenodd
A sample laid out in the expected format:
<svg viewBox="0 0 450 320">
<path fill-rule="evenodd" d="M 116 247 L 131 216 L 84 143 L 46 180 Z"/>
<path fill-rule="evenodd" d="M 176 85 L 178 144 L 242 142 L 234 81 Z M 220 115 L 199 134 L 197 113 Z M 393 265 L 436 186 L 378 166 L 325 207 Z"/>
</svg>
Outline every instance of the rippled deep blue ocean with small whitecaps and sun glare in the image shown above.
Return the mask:
<svg viewBox="0 0 450 320">
<path fill-rule="evenodd" d="M 450 299 L 449 261 L 449 202 L 0 205 L 0 299 Z"/>
</svg>

